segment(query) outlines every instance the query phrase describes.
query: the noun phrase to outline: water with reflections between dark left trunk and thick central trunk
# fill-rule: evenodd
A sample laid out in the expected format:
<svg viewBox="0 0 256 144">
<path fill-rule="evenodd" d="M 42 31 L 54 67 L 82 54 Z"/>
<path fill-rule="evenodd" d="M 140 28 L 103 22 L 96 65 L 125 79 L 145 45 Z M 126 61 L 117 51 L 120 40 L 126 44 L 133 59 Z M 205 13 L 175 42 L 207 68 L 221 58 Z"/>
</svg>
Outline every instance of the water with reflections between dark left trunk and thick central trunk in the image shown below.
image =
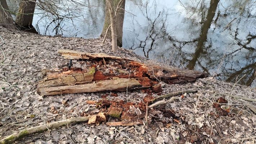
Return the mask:
<svg viewBox="0 0 256 144">
<path fill-rule="evenodd" d="M 56 9 L 49 13 L 40 5 L 36 6 L 37 32 L 44 35 L 98 37 L 104 22 L 104 2 L 100 0 L 53 0 Z M 56 13 L 56 14 L 55 14 Z M 97 14 L 97 16 L 95 16 Z M 103 19 L 103 22 L 102 22 Z M 42 28 L 43 27 L 43 28 Z M 96 35 L 96 36 L 95 36 Z"/>
</svg>

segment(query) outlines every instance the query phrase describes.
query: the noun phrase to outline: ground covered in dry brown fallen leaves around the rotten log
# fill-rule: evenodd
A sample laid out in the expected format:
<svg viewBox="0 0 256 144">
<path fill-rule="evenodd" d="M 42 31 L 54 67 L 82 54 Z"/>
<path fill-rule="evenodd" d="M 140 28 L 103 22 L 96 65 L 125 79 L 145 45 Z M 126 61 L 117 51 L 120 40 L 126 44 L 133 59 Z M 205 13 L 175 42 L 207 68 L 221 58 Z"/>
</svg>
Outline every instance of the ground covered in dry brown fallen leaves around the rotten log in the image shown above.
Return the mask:
<svg viewBox="0 0 256 144">
<path fill-rule="evenodd" d="M 63 68 L 69 60 L 57 53 L 59 49 L 70 49 L 90 53 L 105 53 L 126 57 L 140 62 L 151 62 L 132 51 L 118 48 L 112 53 L 111 42 L 102 44 L 102 38 L 83 39 L 77 37 L 42 36 L 33 33 L 9 30 L 0 27 L 5 40 L 2 46 L 9 65 L 0 68 L 0 139 L 45 122 L 81 117 L 83 113 L 97 112 L 95 105 L 87 100 L 99 101 L 107 94 L 108 100 L 126 100 L 139 103 L 149 94 L 144 90 L 115 93 L 82 93 L 44 96 L 37 93 L 37 83 L 42 80 L 41 69 Z M 0 61 L 4 60 L 3 53 Z M 73 62 L 81 66 L 79 62 Z M 218 81 L 213 77 L 201 78 L 193 83 L 167 85 L 161 82 L 167 94 L 180 90 L 198 90 L 195 94 L 183 94 L 163 108 L 149 109 L 149 124 L 134 126 L 108 126 L 77 123 L 60 127 L 50 132 L 29 135 L 16 143 L 33 144 L 126 144 L 126 143 L 173 143 L 173 144 L 228 144 L 256 141 L 256 114 L 250 105 L 256 102 L 233 98 L 242 96 L 256 99 L 256 88 Z M 152 94 L 156 97 L 156 94 Z M 109 122 L 120 121 L 110 117 Z M 145 121 L 145 118 L 143 119 Z M 121 133 L 120 133 L 120 130 Z"/>
</svg>

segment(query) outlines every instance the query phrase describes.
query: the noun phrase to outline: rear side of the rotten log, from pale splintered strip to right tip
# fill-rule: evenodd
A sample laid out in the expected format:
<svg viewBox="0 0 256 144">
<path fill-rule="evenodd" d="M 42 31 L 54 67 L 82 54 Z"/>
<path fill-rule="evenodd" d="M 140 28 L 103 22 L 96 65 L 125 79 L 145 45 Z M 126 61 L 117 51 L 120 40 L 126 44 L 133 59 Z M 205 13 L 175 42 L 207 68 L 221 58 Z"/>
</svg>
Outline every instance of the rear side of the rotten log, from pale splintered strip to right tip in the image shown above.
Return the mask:
<svg viewBox="0 0 256 144">
<path fill-rule="evenodd" d="M 193 82 L 197 78 L 208 77 L 207 73 L 192 71 L 188 69 L 179 69 L 179 68 L 170 68 L 162 67 L 155 64 L 144 64 L 139 63 L 135 60 L 114 57 L 107 54 L 92 54 L 84 53 L 74 50 L 58 50 L 64 58 L 66 59 L 96 59 L 96 58 L 108 58 L 114 60 L 125 60 L 129 61 L 131 66 L 138 66 L 140 72 L 146 72 L 145 74 L 149 75 L 153 79 L 158 79 L 167 84 L 178 84 L 183 82 Z"/>
</svg>

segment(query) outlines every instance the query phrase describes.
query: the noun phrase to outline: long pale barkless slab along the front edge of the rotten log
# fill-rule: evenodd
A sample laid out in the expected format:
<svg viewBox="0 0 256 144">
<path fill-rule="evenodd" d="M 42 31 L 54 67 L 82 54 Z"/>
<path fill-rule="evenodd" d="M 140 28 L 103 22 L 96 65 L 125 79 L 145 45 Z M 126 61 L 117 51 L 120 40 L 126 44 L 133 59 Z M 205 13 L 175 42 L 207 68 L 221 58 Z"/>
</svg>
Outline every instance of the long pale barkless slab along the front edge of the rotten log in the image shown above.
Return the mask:
<svg viewBox="0 0 256 144">
<path fill-rule="evenodd" d="M 128 87 L 127 87 L 127 83 Z M 38 87 L 39 92 L 42 95 L 58 95 L 58 94 L 70 94 L 70 93 L 91 93 L 100 91 L 126 91 L 135 89 L 149 88 L 150 86 L 140 84 L 140 82 L 134 78 L 118 78 L 113 77 L 113 80 L 104 80 L 101 82 L 91 84 L 80 85 L 64 85 L 54 87 Z"/>
</svg>

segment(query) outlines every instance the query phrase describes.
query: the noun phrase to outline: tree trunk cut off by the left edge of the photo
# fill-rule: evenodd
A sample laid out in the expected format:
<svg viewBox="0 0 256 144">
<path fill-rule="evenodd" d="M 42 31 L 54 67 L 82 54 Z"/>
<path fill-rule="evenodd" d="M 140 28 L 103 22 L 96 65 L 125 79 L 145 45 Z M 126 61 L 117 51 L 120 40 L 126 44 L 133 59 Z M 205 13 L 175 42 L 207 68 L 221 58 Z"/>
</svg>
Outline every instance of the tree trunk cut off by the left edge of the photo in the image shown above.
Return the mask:
<svg viewBox="0 0 256 144">
<path fill-rule="evenodd" d="M 15 28 L 13 24 L 13 18 L 8 12 L 9 8 L 6 3 L 6 0 L 0 0 L 0 26 L 6 28 Z"/>
</svg>

